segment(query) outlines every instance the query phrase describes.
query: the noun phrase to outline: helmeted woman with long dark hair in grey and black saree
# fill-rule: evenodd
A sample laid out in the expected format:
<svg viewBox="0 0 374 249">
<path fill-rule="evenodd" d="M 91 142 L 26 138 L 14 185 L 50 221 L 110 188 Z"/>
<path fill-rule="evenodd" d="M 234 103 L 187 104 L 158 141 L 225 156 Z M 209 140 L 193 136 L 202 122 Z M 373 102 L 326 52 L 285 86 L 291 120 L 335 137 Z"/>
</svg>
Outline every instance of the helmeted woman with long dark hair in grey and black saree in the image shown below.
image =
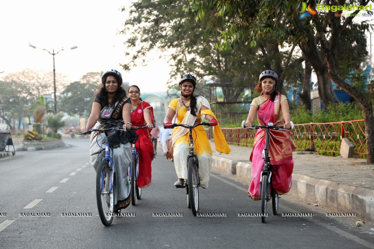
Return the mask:
<svg viewBox="0 0 374 249">
<path fill-rule="evenodd" d="M 123 127 L 123 129 L 128 130 L 125 133 L 127 136 L 135 134 L 129 131 L 131 128 L 131 100 L 126 95 L 126 91 L 121 87 L 122 75 L 117 70 L 111 69 L 102 75 L 101 82 L 102 86 L 96 94 L 95 99 L 93 99 L 91 115 L 88 118 L 86 127 L 81 132 L 85 132 L 91 128 Z M 115 133 L 116 131 L 111 131 L 108 133 L 108 136 Z M 91 164 L 95 168 L 95 171 L 105 155 L 105 148 L 102 148 L 104 140 L 104 133 L 91 133 Z M 133 139 L 130 136 L 128 140 L 132 141 Z M 117 204 L 114 210 L 116 210 L 126 207 L 131 200 L 130 185 L 127 176 L 128 167 L 131 163 L 130 143 L 119 143 L 118 147 L 113 149 L 111 156 L 114 161 L 114 172 L 116 174 L 116 182 L 114 184 L 114 204 Z"/>
</svg>

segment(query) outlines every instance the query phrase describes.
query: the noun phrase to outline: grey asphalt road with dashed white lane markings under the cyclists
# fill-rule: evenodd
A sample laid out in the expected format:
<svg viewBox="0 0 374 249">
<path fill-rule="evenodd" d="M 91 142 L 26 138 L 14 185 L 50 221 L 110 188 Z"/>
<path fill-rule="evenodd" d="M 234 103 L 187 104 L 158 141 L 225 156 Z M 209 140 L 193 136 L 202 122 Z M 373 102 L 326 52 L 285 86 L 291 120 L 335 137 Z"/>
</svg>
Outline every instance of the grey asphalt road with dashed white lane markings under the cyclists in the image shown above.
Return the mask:
<svg viewBox="0 0 374 249">
<path fill-rule="evenodd" d="M 355 227 L 354 217 L 326 217 L 326 212 L 337 211 L 289 196 L 280 199 L 281 213 L 313 216 L 275 216 L 269 202 L 264 224 L 260 217 L 238 217 L 260 212 L 260 202 L 247 196 L 246 183 L 219 172 L 212 172 L 208 189 L 199 188 L 199 212 L 227 217 L 194 217 L 186 191 L 173 186 L 174 164 L 160 155 L 152 164 L 151 186 L 143 189 L 136 206 L 122 210 L 135 216 L 114 217 L 112 225 L 104 227 L 96 206 L 89 141 L 64 141 L 68 148 L 17 152 L 0 160 L 0 248 L 374 248 L 374 234 L 369 233 L 373 224 Z M 92 216 L 61 216 L 74 212 Z M 50 216 L 20 217 L 26 213 Z"/>
</svg>

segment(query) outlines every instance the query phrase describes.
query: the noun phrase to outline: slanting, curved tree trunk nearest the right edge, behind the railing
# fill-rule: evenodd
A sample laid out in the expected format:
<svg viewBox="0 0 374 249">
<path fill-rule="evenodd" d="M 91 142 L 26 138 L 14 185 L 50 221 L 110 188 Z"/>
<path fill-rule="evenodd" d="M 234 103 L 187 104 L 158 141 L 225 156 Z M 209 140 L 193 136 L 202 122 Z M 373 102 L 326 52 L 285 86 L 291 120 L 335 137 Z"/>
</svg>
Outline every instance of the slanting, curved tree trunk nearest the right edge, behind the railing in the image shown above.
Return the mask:
<svg viewBox="0 0 374 249">
<path fill-rule="evenodd" d="M 361 93 L 357 90 L 356 87 L 347 84 L 343 79 L 341 79 L 336 71 L 335 68 L 335 61 L 331 55 L 331 51 L 329 50 L 328 43 L 326 36 L 324 34 L 323 29 L 320 25 L 316 25 L 317 27 L 317 35 L 319 41 L 321 43 L 322 50 L 325 55 L 325 59 L 327 61 L 328 66 L 328 77 L 335 82 L 340 88 L 346 91 L 350 96 L 352 96 L 358 103 L 360 103 L 362 112 L 364 114 L 364 123 L 365 123 L 365 135 L 366 135 L 366 144 L 367 144 L 367 163 L 374 162 L 374 116 L 373 116 L 373 103 L 365 96 L 365 94 Z"/>
</svg>

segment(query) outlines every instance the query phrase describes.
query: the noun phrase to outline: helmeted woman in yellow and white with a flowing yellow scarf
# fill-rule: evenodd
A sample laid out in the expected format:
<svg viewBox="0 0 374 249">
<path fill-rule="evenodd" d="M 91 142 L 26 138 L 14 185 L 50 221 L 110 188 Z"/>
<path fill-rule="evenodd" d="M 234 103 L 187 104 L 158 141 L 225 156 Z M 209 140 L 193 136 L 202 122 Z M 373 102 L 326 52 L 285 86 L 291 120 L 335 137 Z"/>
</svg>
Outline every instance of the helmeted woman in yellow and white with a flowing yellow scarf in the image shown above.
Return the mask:
<svg viewBox="0 0 374 249">
<path fill-rule="evenodd" d="M 193 94 L 196 88 L 196 78 L 190 74 L 184 74 L 179 81 L 181 97 L 174 99 L 168 106 L 168 111 L 164 119 L 166 128 L 172 128 L 172 120 L 177 110 L 177 124 L 195 125 L 202 122 L 201 118 L 213 122 L 215 149 L 221 153 L 230 153 L 230 148 L 222 134 L 220 126 L 210 110 L 209 102 L 202 96 Z M 178 101 L 179 100 L 179 101 Z M 179 106 L 177 106 L 179 103 Z M 189 151 L 188 129 L 175 127 L 172 135 L 174 148 L 174 165 L 178 175 L 178 181 L 174 183 L 176 187 L 182 187 L 184 179 L 187 178 L 187 156 Z M 208 187 L 210 170 L 212 167 L 212 149 L 208 137 L 202 126 L 194 128 L 193 133 L 194 152 L 199 159 L 200 186 Z"/>
</svg>

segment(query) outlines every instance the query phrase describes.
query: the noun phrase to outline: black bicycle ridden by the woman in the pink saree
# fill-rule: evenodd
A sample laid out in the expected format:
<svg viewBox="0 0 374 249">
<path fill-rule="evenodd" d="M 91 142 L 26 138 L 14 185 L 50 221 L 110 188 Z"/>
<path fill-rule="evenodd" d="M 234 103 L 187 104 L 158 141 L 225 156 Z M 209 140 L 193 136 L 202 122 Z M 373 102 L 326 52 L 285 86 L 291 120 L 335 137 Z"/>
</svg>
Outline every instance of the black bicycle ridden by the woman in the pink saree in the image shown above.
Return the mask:
<svg viewBox="0 0 374 249">
<path fill-rule="evenodd" d="M 288 131 L 283 128 L 283 126 L 273 126 L 273 123 L 269 122 L 266 126 L 260 125 L 252 125 L 252 127 L 245 127 L 245 121 L 242 122 L 242 127 L 245 129 L 257 130 L 257 129 L 265 129 L 265 149 L 262 151 L 262 158 L 264 159 L 264 168 L 261 171 L 261 178 L 260 178 L 260 197 L 258 199 L 261 200 L 261 222 L 265 222 L 266 217 L 266 204 L 267 202 L 272 200 L 272 209 L 273 214 L 278 214 L 278 206 L 279 206 L 279 195 L 274 191 L 272 188 L 272 165 L 270 163 L 269 157 L 269 130 L 282 130 Z M 294 124 L 291 121 L 291 129 L 294 128 Z"/>
</svg>

